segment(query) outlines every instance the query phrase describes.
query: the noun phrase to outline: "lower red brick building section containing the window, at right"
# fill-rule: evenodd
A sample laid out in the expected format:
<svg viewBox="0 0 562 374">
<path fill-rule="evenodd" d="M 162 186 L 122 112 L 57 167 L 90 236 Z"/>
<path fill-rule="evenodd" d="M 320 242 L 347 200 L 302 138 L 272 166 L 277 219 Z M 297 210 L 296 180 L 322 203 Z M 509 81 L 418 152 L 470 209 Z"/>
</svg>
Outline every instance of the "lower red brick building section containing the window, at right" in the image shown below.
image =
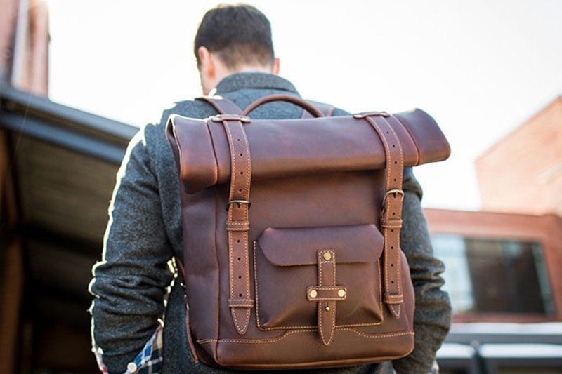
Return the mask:
<svg viewBox="0 0 562 374">
<path fill-rule="evenodd" d="M 562 218 L 426 209 L 455 322 L 562 321 Z"/>
</svg>

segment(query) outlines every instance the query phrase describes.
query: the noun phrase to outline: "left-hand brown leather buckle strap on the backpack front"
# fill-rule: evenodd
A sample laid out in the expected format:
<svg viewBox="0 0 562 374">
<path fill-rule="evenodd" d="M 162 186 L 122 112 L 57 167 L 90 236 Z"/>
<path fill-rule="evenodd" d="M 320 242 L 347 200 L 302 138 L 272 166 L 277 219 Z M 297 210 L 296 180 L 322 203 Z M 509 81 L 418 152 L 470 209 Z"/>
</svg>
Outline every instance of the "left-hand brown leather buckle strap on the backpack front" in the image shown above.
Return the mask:
<svg viewBox="0 0 562 374">
<path fill-rule="evenodd" d="M 220 117 L 220 116 L 219 116 Z M 246 119 L 247 120 L 247 119 Z M 251 159 L 244 125 L 235 116 L 225 116 L 223 126 L 230 147 L 230 192 L 226 229 L 230 298 L 228 307 L 237 333 L 246 333 L 254 300 L 250 293 L 248 230 Z"/>
</svg>

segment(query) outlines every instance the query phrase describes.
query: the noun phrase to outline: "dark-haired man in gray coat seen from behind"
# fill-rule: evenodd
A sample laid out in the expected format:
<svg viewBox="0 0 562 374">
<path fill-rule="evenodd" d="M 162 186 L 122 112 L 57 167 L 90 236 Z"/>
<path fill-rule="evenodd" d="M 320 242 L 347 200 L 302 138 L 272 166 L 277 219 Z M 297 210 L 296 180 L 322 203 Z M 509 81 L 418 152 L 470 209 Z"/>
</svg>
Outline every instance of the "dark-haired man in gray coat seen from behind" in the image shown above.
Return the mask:
<svg viewBox="0 0 562 374">
<path fill-rule="evenodd" d="M 270 24 L 256 8 L 239 4 L 211 9 L 197 31 L 194 53 L 205 95 L 222 95 L 242 108 L 274 93 L 299 96 L 289 81 L 277 76 L 279 60 L 273 52 Z M 91 282 L 93 349 L 107 373 L 225 372 L 193 362 L 183 288 L 169 269 L 172 258 L 183 260 L 180 187 L 164 131 L 169 114 L 205 118 L 216 110 L 200 100 L 178 102 L 164 112 L 159 125 L 141 129 L 127 149 L 110 206 L 103 259 L 93 268 Z M 344 114 L 341 109 L 334 111 Z M 254 118 L 301 115 L 302 109 L 285 102 L 252 112 Z M 404 189 L 402 245 L 417 302 L 414 352 L 393 363 L 324 372 L 429 373 L 447 335 L 450 303 L 440 290 L 443 264 L 431 253 L 421 189 L 410 170 L 405 173 Z"/>
</svg>

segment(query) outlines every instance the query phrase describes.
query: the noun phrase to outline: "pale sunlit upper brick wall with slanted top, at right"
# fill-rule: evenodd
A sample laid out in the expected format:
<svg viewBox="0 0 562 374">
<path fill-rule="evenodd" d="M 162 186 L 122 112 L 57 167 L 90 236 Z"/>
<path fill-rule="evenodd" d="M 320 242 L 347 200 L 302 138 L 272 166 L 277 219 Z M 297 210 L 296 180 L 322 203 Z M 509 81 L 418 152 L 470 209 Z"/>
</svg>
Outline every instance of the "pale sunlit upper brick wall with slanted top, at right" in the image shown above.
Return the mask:
<svg viewBox="0 0 562 374">
<path fill-rule="evenodd" d="M 482 210 L 562 216 L 562 96 L 476 160 Z"/>
</svg>

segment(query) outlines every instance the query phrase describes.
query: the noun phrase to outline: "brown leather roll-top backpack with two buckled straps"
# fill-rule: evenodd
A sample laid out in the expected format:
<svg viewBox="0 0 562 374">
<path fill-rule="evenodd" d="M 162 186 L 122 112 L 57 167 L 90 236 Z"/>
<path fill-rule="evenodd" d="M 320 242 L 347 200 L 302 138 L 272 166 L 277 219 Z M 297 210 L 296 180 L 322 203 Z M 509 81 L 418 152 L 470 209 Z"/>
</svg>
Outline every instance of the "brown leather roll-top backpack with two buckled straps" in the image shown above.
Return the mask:
<svg viewBox="0 0 562 374">
<path fill-rule="evenodd" d="M 234 369 L 398 359 L 414 347 L 400 250 L 403 170 L 450 154 L 416 109 L 322 116 L 299 98 L 227 100 L 171 116 L 182 182 L 188 337 L 195 360 Z M 273 100 L 315 118 L 251 119 Z M 221 109 L 223 108 L 223 109 Z"/>
</svg>

